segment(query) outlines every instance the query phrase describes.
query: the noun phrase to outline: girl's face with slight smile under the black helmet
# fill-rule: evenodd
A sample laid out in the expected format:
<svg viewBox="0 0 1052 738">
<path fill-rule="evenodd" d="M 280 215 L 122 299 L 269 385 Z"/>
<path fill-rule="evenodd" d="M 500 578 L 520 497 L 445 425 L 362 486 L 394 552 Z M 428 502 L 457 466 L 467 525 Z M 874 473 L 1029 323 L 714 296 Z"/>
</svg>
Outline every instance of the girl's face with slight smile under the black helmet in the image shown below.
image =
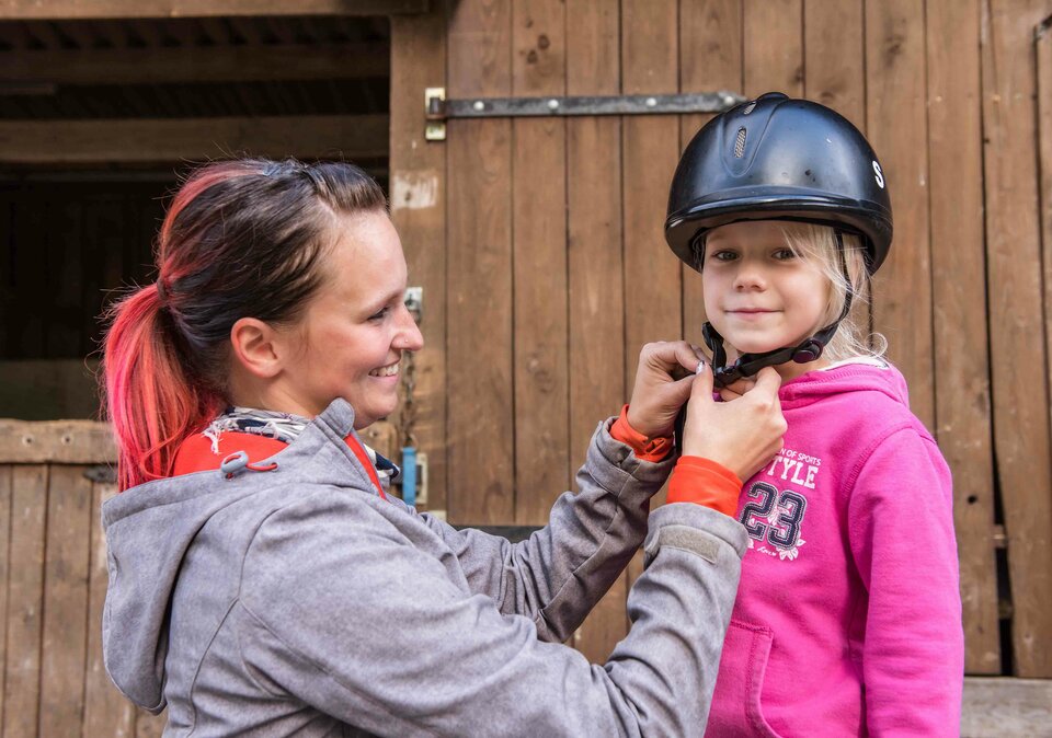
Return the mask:
<svg viewBox="0 0 1052 738">
<path fill-rule="evenodd" d="M 793 253 L 785 228 L 777 220 L 745 220 L 713 229 L 706 239 L 705 310 L 724 338 L 729 361 L 794 346 L 824 327 L 828 280 Z M 796 367 L 802 371 L 793 374 L 814 368 Z"/>
</svg>

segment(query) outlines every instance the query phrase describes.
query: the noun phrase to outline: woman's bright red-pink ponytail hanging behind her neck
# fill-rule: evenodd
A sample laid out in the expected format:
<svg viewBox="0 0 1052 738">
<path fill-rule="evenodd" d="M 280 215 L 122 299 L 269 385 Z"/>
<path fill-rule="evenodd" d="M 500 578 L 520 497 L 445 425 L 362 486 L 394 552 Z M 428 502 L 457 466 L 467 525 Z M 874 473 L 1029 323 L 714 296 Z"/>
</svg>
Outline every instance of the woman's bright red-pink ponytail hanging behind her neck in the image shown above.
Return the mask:
<svg viewBox="0 0 1052 738">
<path fill-rule="evenodd" d="M 122 491 L 171 475 L 179 445 L 219 410 L 220 400 L 186 373 L 157 285 L 110 311 L 103 376 Z"/>
</svg>

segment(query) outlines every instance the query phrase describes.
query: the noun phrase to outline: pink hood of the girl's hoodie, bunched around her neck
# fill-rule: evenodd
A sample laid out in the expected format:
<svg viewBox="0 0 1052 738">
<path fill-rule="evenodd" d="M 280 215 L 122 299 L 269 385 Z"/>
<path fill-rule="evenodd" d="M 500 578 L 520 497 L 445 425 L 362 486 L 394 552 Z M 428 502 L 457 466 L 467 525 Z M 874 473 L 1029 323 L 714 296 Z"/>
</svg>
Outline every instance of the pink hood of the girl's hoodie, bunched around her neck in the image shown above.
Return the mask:
<svg viewBox="0 0 1052 738">
<path fill-rule="evenodd" d="M 782 384 L 778 397 L 782 408 L 796 408 L 851 392 L 878 392 L 910 407 L 910 393 L 902 372 L 882 359 L 868 357 L 801 374 Z"/>
</svg>

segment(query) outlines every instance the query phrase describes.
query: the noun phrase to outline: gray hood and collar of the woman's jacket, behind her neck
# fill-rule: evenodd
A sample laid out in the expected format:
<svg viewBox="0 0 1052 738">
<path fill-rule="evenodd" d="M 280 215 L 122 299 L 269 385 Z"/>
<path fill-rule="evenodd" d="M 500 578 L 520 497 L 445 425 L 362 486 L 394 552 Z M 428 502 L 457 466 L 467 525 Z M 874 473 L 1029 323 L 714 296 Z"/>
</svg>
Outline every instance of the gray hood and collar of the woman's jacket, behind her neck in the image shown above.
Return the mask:
<svg viewBox="0 0 1052 738">
<path fill-rule="evenodd" d="M 354 463 L 342 442 L 353 427 L 354 411 L 336 400 L 271 460 L 290 468 L 295 458 L 317 454 L 319 447 L 328 445 L 345 450 L 345 460 Z M 334 440 L 340 442 L 332 443 Z M 355 476 L 354 470 L 343 464 L 330 466 L 329 474 L 330 478 L 304 481 L 347 486 Z M 195 538 L 217 514 L 289 481 L 286 473 L 241 470 L 227 477 L 218 470 L 205 471 L 156 480 L 103 505 L 110 573 L 102 616 L 103 657 L 110 678 L 129 700 L 153 713 L 164 707 L 170 603 Z M 371 483 L 365 488 L 369 486 Z"/>
</svg>

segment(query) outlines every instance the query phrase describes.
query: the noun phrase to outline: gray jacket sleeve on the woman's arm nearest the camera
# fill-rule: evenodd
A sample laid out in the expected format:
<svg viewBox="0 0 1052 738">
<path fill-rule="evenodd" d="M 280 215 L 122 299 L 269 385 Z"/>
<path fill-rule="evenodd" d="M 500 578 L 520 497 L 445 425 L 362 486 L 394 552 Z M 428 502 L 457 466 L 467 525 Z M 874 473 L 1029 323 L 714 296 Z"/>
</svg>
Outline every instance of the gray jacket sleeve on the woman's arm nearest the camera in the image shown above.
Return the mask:
<svg viewBox="0 0 1052 738">
<path fill-rule="evenodd" d="M 596 666 L 456 587 L 381 520 L 329 494 L 259 530 L 228 625 L 263 689 L 379 735 L 701 736 L 745 550 L 737 522 L 688 504 L 650 516 L 631 631 Z"/>
</svg>

